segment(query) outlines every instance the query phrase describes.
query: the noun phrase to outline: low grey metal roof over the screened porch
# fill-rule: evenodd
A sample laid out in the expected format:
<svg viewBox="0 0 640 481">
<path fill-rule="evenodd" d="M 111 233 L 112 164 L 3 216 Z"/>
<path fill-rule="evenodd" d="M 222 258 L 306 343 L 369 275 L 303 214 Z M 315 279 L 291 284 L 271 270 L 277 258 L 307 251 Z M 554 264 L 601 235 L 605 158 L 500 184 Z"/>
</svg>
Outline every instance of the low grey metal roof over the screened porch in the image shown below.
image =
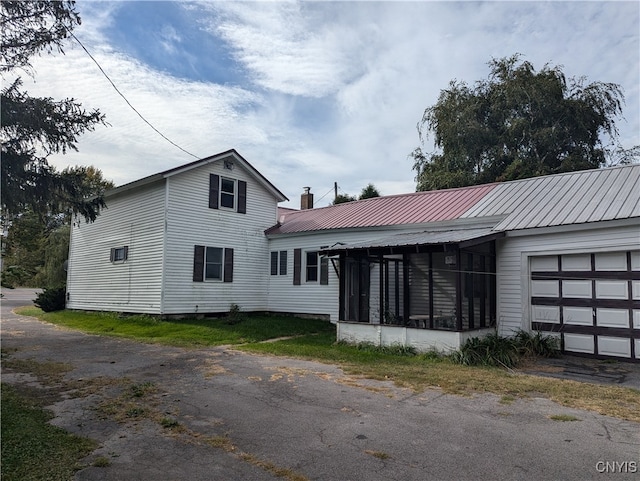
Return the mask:
<svg viewBox="0 0 640 481">
<path fill-rule="evenodd" d="M 366 242 L 338 244 L 323 249 L 322 253 L 332 255 L 354 250 L 393 249 L 437 244 L 458 244 L 459 247 L 467 247 L 498 239 L 504 235 L 504 232 L 496 231 L 491 227 L 410 232 Z"/>
</svg>

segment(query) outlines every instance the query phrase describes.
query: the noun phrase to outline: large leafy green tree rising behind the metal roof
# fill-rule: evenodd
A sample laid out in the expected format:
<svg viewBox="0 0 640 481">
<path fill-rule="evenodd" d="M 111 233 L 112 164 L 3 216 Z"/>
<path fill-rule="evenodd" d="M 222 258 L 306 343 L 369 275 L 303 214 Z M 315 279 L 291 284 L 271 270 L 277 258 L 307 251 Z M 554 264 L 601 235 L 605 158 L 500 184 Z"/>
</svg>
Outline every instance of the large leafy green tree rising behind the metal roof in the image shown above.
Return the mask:
<svg viewBox="0 0 640 481">
<path fill-rule="evenodd" d="M 513 55 L 489 62 L 487 80 L 452 81 L 418 124 L 435 150 L 413 151 L 416 190 L 483 184 L 598 168 L 615 143 L 624 96 L 619 85 L 535 71 Z"/>
</svg>

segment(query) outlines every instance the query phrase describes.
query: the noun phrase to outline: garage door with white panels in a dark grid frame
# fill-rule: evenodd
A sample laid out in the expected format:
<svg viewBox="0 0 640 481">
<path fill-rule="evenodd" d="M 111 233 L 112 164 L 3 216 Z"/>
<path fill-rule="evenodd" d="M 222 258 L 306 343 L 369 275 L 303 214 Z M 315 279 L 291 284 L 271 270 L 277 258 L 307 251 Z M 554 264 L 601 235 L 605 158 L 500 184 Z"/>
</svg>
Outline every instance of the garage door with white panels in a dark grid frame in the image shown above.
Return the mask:
<svg viewBox="0 0 640 481">
<path fill-rule="evenodd" d="M 640 251 L 530 258 L 531 328 L 562 350 L 640 360 Z"/>
</svg>

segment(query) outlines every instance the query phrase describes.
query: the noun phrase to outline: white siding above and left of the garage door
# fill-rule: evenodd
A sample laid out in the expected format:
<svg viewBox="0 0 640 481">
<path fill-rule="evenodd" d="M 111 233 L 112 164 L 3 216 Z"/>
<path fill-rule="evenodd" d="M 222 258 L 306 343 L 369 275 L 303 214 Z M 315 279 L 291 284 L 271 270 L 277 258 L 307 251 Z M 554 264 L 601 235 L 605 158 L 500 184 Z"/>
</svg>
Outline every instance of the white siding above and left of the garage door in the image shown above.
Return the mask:
<svg viewBox="0 0 640 481">
<path fill-rule="evenodd" d="M 498 327 L 501 334 L 528 329 L 529 258 L 532 256 L 615 252 L 638 248 L 640 225 L 615 221 L 508 233 L 497 242 Z M 597 256 L 596 256 L 597 257 Z"/>
</svg>

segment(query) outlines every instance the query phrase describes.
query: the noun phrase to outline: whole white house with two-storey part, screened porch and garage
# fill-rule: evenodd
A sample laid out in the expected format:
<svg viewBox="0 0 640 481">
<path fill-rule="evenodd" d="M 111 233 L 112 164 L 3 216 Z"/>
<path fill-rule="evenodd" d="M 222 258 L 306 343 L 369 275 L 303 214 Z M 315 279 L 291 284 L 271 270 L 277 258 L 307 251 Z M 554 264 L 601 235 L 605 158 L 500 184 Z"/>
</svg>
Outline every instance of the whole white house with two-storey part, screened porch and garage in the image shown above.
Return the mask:
<svg viewBox="0 0 640 481">
<path fill-rule="evenodd" d="M 322 317 L 450 350 L 540 330 L 640 359 L 640 165 L 301 210 L 229 151 L 112 190 L 71 235 L 71 309 Z"/>
</svg>

